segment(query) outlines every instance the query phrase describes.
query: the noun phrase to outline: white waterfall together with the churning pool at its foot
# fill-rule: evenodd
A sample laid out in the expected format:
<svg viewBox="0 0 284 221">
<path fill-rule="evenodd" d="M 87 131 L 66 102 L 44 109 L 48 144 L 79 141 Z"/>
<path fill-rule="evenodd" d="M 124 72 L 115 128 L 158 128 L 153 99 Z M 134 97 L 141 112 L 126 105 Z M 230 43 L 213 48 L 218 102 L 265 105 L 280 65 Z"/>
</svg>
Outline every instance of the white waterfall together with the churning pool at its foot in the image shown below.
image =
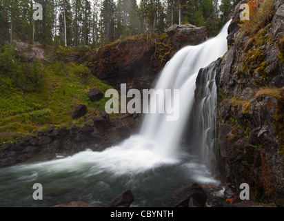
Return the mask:
<svg viewBox="0 0 284 221">
<path fill-rule="evenodd" d="M 148 114 L 139 135 L 105 151 L 0 169 L 0 206 L 52 206 L 73 200 L 101 206 L 125 189 L 132 189 L 137 206 L 155 206 L 181 184 L 219 183 L 196 157 L 180 157 L 179 142 L 194 104 L 196 77 L 226 52 L 229 23 L 217 37 L 177 52 L 161 73 L 156 90 L 180 90 L 177 121 Z M 32 200 L 31 188 L 37 182 L 43 184 L 43 202 Z"/>
</svg>

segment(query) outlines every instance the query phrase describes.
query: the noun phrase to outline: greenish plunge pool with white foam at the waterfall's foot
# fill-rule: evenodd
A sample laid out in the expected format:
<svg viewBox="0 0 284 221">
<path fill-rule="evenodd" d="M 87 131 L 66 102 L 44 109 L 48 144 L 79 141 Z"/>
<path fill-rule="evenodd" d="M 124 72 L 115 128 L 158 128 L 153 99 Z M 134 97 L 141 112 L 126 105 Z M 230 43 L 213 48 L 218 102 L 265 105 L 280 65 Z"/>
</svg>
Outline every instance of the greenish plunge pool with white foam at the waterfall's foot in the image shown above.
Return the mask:
<svg viewBox="0 0 284 221">
<path fill-rule="evenodd" d="M 134 136 L 132 142 L 141 141 Z M 114 146 L 103 152 L 90 150 L 70 157 L 21 164 L 0 169 L 0 206 L 55 206 L 83 201 L 103 206 L 126 189 L 132 190 L 132 206 L 167 206 L 173 191 L 192 182 L 206 189 L 209 206 L 223 200 L 222 186 L 194 154 L 181 150 L 179 160 L 160 157 L 150 148 Z M 32 186 L 43 186 L 43 200 L 34 200 Z M 211 199 L 211 200 L 210 200 Z"/>
</svg>

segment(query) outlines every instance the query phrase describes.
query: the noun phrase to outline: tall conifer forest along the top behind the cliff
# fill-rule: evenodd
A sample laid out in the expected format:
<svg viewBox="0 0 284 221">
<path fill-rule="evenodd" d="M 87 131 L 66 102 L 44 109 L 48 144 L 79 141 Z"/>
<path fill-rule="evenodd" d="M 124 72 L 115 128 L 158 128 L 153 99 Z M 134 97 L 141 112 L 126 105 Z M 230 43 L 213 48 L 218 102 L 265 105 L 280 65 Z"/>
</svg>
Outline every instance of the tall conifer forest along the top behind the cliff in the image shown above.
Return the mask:
<svg viewBox="0 0 284 221">
<path fill-rule="evenodd" d="M 33 0 L 0 0 L 0 41 L 45 46 L 100 46 L 174 23 L 206 26 L 216 35 L 238 0 L 37 0 L 43 20 L 34 21 Z"/>
</svg>

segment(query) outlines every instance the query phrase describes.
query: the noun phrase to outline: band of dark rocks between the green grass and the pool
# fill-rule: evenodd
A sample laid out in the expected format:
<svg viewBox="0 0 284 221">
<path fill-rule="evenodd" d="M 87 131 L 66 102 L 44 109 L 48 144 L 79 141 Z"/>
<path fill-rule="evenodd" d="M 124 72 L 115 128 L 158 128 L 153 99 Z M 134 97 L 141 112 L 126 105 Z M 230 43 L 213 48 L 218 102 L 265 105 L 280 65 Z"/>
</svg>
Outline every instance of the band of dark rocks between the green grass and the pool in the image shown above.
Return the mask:
<svg viewBox="0 0 284 221">
<path fill-rule="evenodd" d="M 92 125 L 50 128 L 50 131 L 40 132 L 37 137 L 24 137 L 1 147 L 0 166 L 52 160 L 57 155 L 68 156 L 86 148 L 102 151 L 128 138 L 138 121 L 139 117 L 134 119 L 133 115 L 110 119 L 107 113 L 101 112 L 93 117 Z"/>
</svg>

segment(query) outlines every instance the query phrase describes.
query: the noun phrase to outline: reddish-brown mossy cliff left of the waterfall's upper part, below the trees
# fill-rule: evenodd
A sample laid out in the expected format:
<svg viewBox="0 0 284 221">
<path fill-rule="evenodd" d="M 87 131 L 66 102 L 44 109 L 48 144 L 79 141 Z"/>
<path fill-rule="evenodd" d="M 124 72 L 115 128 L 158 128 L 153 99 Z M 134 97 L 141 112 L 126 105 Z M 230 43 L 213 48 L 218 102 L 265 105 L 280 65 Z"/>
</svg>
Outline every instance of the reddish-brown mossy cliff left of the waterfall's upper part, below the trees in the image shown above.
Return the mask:
<svg viewBox="0 0 284 221">
<path fill-rule="evenodd" d="M 205 27 L 171 26 L 162 35 L 129 37 L 103 46 L 94 53 L 92 74 L 114 88 L 150 88 L 159 72 L 183 46 L 201 44 L 207 39 Z"/>
</svg>

